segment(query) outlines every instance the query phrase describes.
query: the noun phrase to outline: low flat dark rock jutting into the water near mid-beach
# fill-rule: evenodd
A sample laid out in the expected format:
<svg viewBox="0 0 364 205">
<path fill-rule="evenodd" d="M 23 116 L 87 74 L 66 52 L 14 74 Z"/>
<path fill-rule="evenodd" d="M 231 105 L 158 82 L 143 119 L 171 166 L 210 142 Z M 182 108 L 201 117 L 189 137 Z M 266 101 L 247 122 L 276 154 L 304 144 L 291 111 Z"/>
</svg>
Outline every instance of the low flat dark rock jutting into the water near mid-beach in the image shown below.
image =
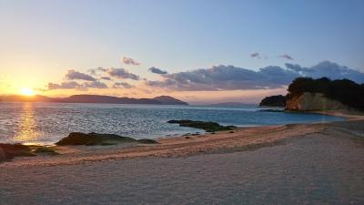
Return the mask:
<svg viewBox="0 0 364 205">
<path fill-rule="evenodd" d="M 235 126 L 221 126 L 216 122 L 204 122 L 204 121 L 193 121 L 189 119 L 182 120 L 169 120 L 167 123 L 179 124 L 181 127 L 189 127 L 189 128 L 201 128 L 207 132 L 215 132 L 222 130 L 232 130 L 237 127 Z"/>
</svg>

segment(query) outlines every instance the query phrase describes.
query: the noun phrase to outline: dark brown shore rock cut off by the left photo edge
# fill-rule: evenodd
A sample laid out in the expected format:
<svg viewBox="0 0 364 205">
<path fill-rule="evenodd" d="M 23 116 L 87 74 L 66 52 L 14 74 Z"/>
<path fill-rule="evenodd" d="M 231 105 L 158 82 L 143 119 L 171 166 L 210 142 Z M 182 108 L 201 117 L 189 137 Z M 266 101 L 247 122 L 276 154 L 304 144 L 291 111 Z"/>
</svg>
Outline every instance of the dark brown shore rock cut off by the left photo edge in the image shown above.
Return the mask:
<svg viewBox="0 0 364 205">
<path fill-rule="evenodd" d="M 18 156 L 35 156 L 29 147 L 22 144 L 0 143 L 0 161 L 14 159 Z"/>
</svg>

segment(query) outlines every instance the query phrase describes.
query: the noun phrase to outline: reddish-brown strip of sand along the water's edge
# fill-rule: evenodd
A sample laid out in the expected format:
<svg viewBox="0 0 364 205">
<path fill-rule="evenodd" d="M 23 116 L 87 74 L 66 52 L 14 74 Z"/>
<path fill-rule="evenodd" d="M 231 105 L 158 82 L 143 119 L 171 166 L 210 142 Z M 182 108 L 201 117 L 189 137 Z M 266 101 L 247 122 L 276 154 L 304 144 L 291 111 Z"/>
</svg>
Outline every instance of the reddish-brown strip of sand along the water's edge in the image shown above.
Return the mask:
<svg viewBox="0 0 364 205">
<path fill-rule="evenodd" d="M 288 138 L 299 138 L 323 133 L 333 125 L 344 125 L 357 121 L 361 126 L 364 116 L 353 113 L 324 112 L 320 114 L 345 117 L 343 121 L 315 122 L 308 124 L 287 124 L 237 128 L 198 136 L 157 138 L 158 144 L 140 145 L 123 143 L 112 146 L 56 146 L 56 156 L 20 157 L 0 164 L 2 167 L 55 166 L 117 159 L 179 158 L 201 154 L 228 153 L 253 150 L 282 144 Z M 334 126 L 335 127 L 335 126 Z"/>
</svg>

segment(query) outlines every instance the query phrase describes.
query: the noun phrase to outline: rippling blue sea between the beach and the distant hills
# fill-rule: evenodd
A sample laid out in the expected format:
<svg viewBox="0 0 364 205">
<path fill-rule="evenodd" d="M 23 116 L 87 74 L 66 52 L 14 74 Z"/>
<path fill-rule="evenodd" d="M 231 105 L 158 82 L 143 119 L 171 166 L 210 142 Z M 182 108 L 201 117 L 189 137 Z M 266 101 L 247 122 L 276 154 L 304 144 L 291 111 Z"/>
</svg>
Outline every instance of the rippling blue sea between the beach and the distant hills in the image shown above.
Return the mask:
<svg viewBox="0 0 364 205">
<path fill-rule="evenodd" d="M 241 127 L 341 120 L 317 114 L 261 112 L 260 108 L 196 106 L 0 103 L 0 142 L 50 144 L 70 132 L 158 138 L 203 132 L 168 124 L 170 119 L 215 121 Z"/>
</svg>

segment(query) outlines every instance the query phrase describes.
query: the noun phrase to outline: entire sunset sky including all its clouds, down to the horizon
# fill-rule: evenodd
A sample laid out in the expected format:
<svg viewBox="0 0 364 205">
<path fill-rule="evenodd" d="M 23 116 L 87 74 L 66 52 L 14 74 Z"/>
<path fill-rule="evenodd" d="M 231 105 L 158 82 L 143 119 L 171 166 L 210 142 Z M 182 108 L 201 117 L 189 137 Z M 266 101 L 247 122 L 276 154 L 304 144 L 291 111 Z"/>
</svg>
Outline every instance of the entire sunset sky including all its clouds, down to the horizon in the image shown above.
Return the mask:
<svg viewBox="0 0 364 205">
<path fill-rule="evenodd" d="M 286 94 L 295 77 L 364 83 L 361 0 L 0 0 L 0 94 Z"/>
</svg>

